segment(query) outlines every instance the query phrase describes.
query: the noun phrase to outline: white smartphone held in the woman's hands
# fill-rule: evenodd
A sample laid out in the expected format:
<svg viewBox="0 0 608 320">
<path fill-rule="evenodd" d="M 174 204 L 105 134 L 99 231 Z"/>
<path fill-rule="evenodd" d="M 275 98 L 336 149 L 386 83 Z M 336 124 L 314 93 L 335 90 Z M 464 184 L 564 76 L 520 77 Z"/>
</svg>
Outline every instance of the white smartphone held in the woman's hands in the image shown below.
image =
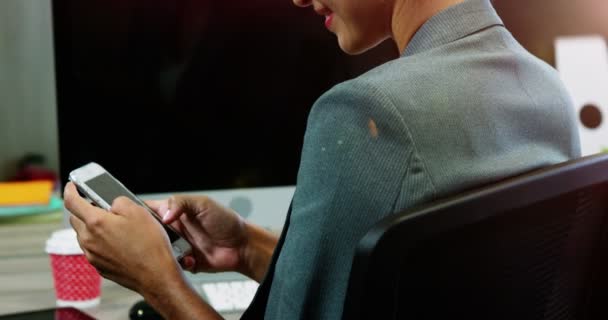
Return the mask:
<svg viewBox="0 0 608 320">
<path fill-rule="evenodd" d="M 125 196 L 138 205 L 144 207 L 163 226 L 173 249 L 173 256 L 179 261 L 182 257 L 192 251 L 190 243 L 182 238 L 175 229 L 161 222 L 161 218 L 154 210 L 150 209 L 142 200 L 114 178 L 108 171 L 97 163 L 91 162 L 70 172 L 72 181 L 78 190 L 90 201 L 102 209 L 110 210 L 114 199 Z"/>
</svg>

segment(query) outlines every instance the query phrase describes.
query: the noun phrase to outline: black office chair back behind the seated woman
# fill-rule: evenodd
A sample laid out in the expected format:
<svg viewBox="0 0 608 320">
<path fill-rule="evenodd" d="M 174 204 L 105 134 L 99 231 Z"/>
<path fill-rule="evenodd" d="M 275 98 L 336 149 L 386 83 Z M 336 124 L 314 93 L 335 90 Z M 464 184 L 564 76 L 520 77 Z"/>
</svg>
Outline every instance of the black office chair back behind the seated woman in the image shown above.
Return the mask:
<svg viewBox="0 0 608 320">
<path fill-rule="evenodd" d="M 359 243 L 343 319 L 608 319 L 607 211 L 598 155 L 388 217 Z"/>
</svg>

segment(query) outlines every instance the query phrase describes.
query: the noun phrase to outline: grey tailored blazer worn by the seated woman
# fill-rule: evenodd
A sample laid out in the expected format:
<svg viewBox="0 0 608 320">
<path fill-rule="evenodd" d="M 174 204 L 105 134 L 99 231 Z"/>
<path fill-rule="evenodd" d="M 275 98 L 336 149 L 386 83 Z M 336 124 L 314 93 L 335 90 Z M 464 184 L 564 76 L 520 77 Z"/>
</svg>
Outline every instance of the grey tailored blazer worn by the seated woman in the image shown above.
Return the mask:
<svg viewBox="0 0 608 320">
<path fill-rule="evenodd" d="M 291 216 L 247 316 L 340 319 L 354 248 L 375 222 L 579 156 L 573 112 L 489 1 L 437 14 L 399 59 L 314 105 Z"/>
</svg>

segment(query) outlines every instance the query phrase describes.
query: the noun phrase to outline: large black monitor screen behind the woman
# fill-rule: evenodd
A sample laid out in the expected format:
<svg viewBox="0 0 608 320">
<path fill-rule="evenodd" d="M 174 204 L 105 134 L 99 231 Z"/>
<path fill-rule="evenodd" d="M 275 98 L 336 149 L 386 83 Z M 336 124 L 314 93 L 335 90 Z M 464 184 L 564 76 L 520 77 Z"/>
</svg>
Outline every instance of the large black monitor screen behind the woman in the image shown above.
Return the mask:
<svg viewBox="0 0 608 320">
<path fill-rule="evenodd" d="M 290 0 L 54 0 L 60 169 L 94 161 L 133 192 L 289 186 L 307 115 L 395 58 L 342 53 Z"/>
</svg>

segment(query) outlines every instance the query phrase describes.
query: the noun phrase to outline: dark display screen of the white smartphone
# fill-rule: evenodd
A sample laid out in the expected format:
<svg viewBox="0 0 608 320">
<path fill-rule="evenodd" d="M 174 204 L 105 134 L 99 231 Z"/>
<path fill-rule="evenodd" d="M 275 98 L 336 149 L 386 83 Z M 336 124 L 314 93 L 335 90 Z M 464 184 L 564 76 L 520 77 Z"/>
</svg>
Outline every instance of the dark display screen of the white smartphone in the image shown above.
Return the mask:
<svg viewBox="0 0 608 320">
<path fill-rule="evenodd" d="M 133 200 L 133 202 L 135 202 L 141 206 L 144 206 L 149 211 L 152 211 L 152 209 L 149 209 L 148 206 L 146 206 L 146 204 L 143 201 L 138 199 L 129 190 L 125 189 L 120 183 L 118 183 L 111 175 L 109 175 L 107 173 L 102 173 L 101 175 L 98 175 L 95 178 L 87 180 L 85 182 L 85 184 L 91 190 L 94 190 L 95 193 L 97 193 L 97 195 L 99 195 L 99 197 L 101 197 L 103 200 L 105 200 L 105 202 L 107 202 L 109 204 L 112 204 L 112 202 L 114 202 L 114 199 L 116 199 L 120 196 L 125 196 L 125 197 Z M 151 214 L 157 220 L 159 220 L 155 214 L 153 214 L 153 213 L 151 213 Z M 177 241 L 180 238 L 180 236 L 175 231 L 173 231 L 172 229 L 167 227 L 167 225 L 165 225 L 163 223 L 161 223 L 161 225 L 163 226 L 163 228 L 169 235 L 169 240 L 171 240 L 171 243 Z"/>
</svg>

